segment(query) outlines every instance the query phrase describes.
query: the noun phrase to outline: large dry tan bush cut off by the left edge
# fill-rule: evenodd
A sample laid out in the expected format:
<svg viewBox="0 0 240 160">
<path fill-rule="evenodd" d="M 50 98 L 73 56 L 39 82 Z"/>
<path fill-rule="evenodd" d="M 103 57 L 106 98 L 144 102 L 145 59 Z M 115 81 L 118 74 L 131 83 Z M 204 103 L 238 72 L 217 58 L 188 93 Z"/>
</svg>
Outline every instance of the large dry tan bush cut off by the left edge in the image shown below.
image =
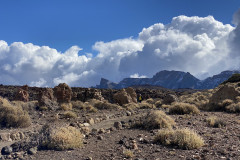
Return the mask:
<svg viewBox="0 0 240 160">
<path fill-rule="evenodd" d="M 0 125 L 24 128 L 31 125 L 31 119 L 20 105 L 14 106 L 7 99 L 0 97 Z"/>
</svg>

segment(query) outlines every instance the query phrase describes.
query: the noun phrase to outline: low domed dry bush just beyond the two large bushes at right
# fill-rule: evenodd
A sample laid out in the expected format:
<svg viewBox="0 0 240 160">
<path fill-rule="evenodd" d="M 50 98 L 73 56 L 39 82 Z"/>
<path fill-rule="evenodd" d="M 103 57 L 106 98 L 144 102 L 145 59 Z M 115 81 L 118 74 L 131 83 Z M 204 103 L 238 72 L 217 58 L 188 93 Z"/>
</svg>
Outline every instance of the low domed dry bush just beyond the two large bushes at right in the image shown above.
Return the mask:
<svg viewBox="0 0 240 160">
<path fill-rule="evenodd" d="M 199 114 L 199 109 L 193 105 L 188 103 L 176 102 L 169 108 L 169 114 Z"/>
</svg>

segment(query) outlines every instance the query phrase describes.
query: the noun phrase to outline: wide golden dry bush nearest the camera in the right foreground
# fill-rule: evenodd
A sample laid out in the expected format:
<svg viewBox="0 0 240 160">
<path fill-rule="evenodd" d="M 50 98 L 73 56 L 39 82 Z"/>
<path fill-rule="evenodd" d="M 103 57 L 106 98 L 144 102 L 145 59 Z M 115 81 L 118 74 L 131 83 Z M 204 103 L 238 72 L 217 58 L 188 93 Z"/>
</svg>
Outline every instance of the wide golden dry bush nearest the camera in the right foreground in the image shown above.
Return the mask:
<svg viewBox="0 0 240 160">
<path fill-rule="evenodd" d="M 196 132 L 187 128 L 159 130 L 154 140 L 156 143 L 188 150 L 197 149 L 204 145 L 203 139 Z"/>
</svg>

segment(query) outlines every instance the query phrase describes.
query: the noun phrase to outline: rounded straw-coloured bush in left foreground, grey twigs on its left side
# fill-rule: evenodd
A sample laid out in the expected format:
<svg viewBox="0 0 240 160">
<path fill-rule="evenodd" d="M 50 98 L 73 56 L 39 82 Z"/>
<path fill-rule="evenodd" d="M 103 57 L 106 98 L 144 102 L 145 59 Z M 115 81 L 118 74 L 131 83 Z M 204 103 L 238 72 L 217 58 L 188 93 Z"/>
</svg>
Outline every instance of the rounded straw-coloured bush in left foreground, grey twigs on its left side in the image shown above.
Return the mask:
<svg viewBox="0 0 240 160">
<path fill-rule="evenodd" d="M 41 133 L 41 149 L 53 149 L 61 151 L 80 148 L 83 145 L 82 133 L 72 126 L 59 128 L 50 128 L 49 126 L 44 126 Z"/>
</svg>

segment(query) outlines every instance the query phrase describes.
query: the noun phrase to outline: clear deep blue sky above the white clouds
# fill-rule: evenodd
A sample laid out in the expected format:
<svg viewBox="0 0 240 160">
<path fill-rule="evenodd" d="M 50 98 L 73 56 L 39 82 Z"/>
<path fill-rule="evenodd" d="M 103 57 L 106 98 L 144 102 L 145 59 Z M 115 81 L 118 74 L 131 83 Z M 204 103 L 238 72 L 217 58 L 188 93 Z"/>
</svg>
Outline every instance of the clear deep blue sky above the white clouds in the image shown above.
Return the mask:
<svg viewBox="0 0 240 160">
<path fill-rule="evenodd" d="M 0 39 L 93 53 L 97 41 L 137 37 L 179 15 L 213 15 L 230 24 L 238 7 L 239 0 L 1 0 Z"/>
</svg>

